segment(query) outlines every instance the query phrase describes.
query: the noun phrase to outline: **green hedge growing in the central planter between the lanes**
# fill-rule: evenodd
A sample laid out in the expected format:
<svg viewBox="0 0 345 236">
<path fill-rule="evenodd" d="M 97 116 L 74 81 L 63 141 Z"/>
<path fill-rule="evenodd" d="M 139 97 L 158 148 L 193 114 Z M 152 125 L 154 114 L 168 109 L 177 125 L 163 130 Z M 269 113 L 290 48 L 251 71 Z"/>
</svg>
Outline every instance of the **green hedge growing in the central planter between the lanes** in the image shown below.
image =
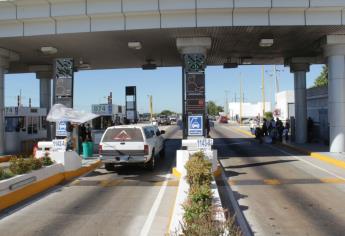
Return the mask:
<svg viewBox="0 0 345 236">
<path fill-rule="evenodd" d="M 225 236 L 241 235 L 234 218 L 226 222 L 213 219 L 216 213 L 212 208 L 212 164 L 203 152 L 193 154 L 185 165 L 186 180 L 189 184 L 182 233 L 186 236 Z"/>
</svg>

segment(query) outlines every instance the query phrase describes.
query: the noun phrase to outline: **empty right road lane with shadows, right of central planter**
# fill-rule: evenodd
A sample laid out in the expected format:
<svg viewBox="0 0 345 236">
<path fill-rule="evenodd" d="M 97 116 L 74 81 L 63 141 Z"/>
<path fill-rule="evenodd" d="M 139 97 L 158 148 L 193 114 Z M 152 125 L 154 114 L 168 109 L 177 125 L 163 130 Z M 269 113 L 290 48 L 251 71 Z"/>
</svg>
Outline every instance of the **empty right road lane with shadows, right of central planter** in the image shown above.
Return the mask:
<svg viewBox="0 0 345 236">
<path fill-rule="evenodd" d="M 228 183 L 255 235 L 345 235 L 345 174 L 259 144 L 230 125 L 211 130 Z"/>
</svg>

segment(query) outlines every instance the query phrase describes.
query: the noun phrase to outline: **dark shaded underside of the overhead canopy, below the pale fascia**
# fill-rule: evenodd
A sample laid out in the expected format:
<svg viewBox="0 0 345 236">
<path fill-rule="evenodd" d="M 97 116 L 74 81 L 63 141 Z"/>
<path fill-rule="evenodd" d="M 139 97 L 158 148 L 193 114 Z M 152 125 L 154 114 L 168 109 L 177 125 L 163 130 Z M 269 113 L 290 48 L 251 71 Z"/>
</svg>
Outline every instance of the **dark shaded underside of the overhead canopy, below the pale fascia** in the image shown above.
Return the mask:
<svg viewBox="0 0 345 236">
<path fill-rule="evenodd" d="M 56 57 L 73 57 L 76 63 L 82 60 L 92 69 L 141 67 L 146 60 L 153 60 L 157 66 L 180 66 L 176 38 L 199 36 L 212 39 L 208 65 L 222 65 L 230 58 L 233 61 L 242 58 L 252 64 L 283 64 L 284 58 L 322 56 L 320 39 L 333 33 L 345 33 L 345 29 L 341 26 L 291 26 L 92 32 L 0 38 L 0 47 L 20 55 L 20 61 L 12 63 L 12 72 L 27 70 L 26 65 L 51 64 Z M 273 46 L 260 47 L 262 38 L 273 38 Z M 140 41 L 142 49 L 128 48 L 130 41 Z M 58 52 L 51 56 L 43 55 L 39 50 L 42 46 L 53 46 Z"/>
</svg>

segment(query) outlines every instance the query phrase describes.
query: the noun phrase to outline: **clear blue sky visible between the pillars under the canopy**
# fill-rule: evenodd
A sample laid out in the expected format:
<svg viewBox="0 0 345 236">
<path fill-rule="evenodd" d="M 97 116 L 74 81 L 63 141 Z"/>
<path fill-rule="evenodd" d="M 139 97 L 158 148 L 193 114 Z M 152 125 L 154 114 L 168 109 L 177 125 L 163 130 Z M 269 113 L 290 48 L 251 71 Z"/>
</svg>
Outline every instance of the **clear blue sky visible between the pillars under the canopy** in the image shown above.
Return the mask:
<svg viewBox="0 0 345 236">
<path fill-rule="evenodd" d="M 277 66 L 280 91 L 293 89 L 293 74 L 289 67 Z M 313 65 L 307 73 L 307 87 L 313 85 L 320 74 L 322 65 Z M 273 66 L 265 66 L 266 100 L 274 97 Z M 91 104 L 106 103 L 106 97 L 113 92 L 113 103 L 124 104 L 125 87 L 137 86 L 138 110 L 148 111 L 148 95 L 153 96 L 154 112 L 169 109 L 181 112 L 181 68 L 158 68 L 157 70 L 116 69 L 91 70 L 75 73 L 74 104 L 75 108 L 91 110 Z M 223 69 L 209 66 L 206 69 L 206 99 L 218 105 L 225 103 L 225 90 L 229 93 L 229 102 L 240 94 L 242 77 L 245 101 L 261 101 L 261 66 L 240 66 L 237 69 Z M 273 89 L 273 90 L 272 90 Z M 16 96 L 22 90 L 23 104 L 39 105 L 39 81 L 35 74 L 7 74 L 5 76 L 5 105 L 15 106 Z"/>
</svg>

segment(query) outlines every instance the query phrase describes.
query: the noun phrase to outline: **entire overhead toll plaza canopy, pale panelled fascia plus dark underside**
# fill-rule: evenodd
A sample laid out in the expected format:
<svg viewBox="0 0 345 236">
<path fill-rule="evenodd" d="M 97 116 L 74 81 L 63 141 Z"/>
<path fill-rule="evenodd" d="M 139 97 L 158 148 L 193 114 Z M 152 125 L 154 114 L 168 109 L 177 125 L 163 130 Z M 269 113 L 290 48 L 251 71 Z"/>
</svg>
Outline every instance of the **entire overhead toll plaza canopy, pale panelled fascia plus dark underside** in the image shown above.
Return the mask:
<svg viewBox="0 0 345 236">
<path fill-rule="evenodd" d="M 0 48 L 18 53 L 10 72 L 73 57 L 93 69 L 179 66 L 179 37 L 210 37 L 208 65 L 282 64 L 320 57 L 320 39 L 345 34 L 343 0 L 14 0 L 0 1 Z M 260 47 L 263 38 L 272 47 Z M 142 43 L 129 49 L 130 41 Z M 43 55 L 52 46 L 57 53 Z M 322 62 L 322 60 L 320 61 Z"/>
</svg>

